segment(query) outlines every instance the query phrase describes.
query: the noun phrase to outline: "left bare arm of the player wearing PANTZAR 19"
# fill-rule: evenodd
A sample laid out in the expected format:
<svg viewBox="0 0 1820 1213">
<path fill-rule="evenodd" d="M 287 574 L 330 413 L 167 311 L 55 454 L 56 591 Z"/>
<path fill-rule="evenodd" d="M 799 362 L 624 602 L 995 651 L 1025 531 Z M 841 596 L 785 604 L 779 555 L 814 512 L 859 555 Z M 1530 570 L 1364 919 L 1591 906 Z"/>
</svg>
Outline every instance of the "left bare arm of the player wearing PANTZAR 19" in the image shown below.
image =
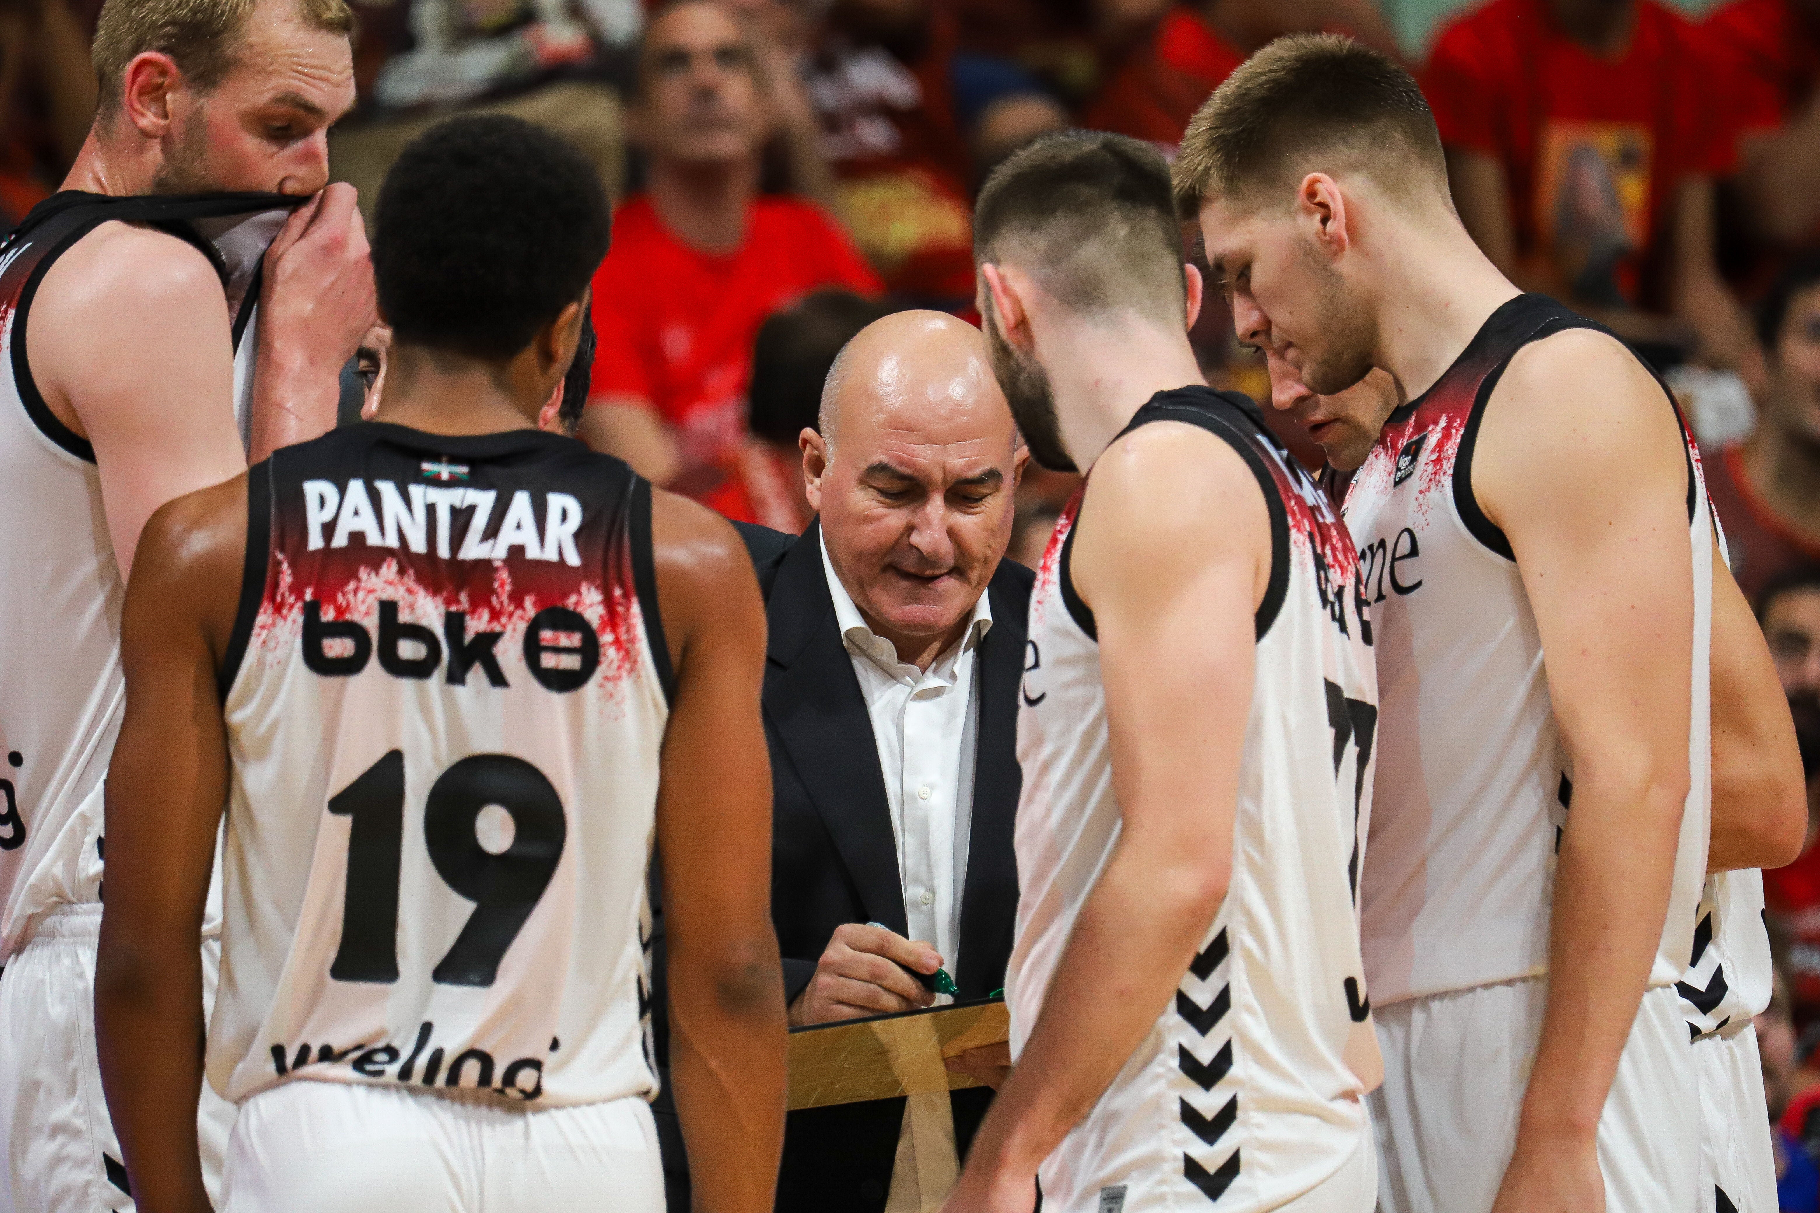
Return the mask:
<svg viewBox="0 0 1820 1213">
<path fill-rule="evenodd" d="M 228 735 L 215 671 L 233 631 L 246 476 L 146 524 L 120 649 L 126 720 L 107 778 L 107 898 L 95 966 L 102 1084 L 144 1213 L 207 1209 L 197 1149 L 202 955 Z"/>
</svg>

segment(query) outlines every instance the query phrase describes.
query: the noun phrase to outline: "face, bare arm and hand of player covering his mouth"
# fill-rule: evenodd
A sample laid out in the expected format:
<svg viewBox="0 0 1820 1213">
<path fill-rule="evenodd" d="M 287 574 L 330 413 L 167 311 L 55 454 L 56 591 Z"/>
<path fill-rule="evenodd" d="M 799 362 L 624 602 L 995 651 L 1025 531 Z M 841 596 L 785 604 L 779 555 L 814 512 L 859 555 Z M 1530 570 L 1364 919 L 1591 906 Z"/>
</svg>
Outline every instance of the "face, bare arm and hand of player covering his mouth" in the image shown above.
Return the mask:
<svg viewBox="0 0 1820 1213">
<path fill-rule="evenodd" d="M 151 51 L 127 65 L 120 93 L 64 189 L 311 196 L 266 255 L 251 458 L 328 431 L 339 369 L 373 318 L 353 189 L 324 189 L 328 127 L 355 100 L 348 38 L 309 27 L 289 0 L 258 0 L 211 93 Z M 96 227 L 46 275 L 25 351 L 51 413 L 95 446 L 122 576 L 153 509 L 246 469 L 228 304 L 213 266 L 186 242 Z"/>
</svg>

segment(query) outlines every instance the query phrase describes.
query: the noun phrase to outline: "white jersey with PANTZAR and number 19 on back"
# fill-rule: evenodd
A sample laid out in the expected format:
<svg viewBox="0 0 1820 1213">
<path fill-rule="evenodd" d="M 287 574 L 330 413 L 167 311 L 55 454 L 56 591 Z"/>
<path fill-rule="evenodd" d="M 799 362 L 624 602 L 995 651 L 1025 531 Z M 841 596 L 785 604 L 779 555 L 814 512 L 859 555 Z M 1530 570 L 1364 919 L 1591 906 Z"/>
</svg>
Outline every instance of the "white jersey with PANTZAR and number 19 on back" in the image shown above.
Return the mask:
<svg viewBox="0 0 1820 1213">
<path fill-rule="evenodd" d="M 650 484 L 359 424 L 249 475 L 209 1082 L 650 1095 Z"/>
</svg>

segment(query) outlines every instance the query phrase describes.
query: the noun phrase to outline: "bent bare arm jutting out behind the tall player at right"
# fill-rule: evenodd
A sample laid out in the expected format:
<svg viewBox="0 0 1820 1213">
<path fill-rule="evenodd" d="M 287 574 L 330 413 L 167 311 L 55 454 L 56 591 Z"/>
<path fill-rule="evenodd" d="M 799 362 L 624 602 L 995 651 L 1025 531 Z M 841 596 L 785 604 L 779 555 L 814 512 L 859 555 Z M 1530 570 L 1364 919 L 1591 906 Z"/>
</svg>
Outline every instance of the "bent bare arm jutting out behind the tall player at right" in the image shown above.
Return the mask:
<svg viewBox="0 0 1820 1213">
<path fill-rule="evenodd" d="M 1789 700 L 1744 591 L 1713 544 L 1713 846 L 1707 871 L 1782 867 L 1807 840 Z"/>
</svg>

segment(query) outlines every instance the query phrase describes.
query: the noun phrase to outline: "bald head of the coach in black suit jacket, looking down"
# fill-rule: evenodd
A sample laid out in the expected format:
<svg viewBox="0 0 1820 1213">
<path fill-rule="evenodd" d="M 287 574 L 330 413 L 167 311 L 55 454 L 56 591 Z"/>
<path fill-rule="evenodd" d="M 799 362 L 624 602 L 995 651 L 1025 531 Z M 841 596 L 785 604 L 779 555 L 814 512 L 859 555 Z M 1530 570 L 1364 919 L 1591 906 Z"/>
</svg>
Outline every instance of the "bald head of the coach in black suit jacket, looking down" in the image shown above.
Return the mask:
<svg viewBox="0 0 1820 1213">
<path fill-rule="evenodd" d="M 899 660 L 957 644 L 1010 542 L 1017 426 L 979 329 L 899 311 L 846 344 L 803 431 L 828 562 Z"/>
</svg>

